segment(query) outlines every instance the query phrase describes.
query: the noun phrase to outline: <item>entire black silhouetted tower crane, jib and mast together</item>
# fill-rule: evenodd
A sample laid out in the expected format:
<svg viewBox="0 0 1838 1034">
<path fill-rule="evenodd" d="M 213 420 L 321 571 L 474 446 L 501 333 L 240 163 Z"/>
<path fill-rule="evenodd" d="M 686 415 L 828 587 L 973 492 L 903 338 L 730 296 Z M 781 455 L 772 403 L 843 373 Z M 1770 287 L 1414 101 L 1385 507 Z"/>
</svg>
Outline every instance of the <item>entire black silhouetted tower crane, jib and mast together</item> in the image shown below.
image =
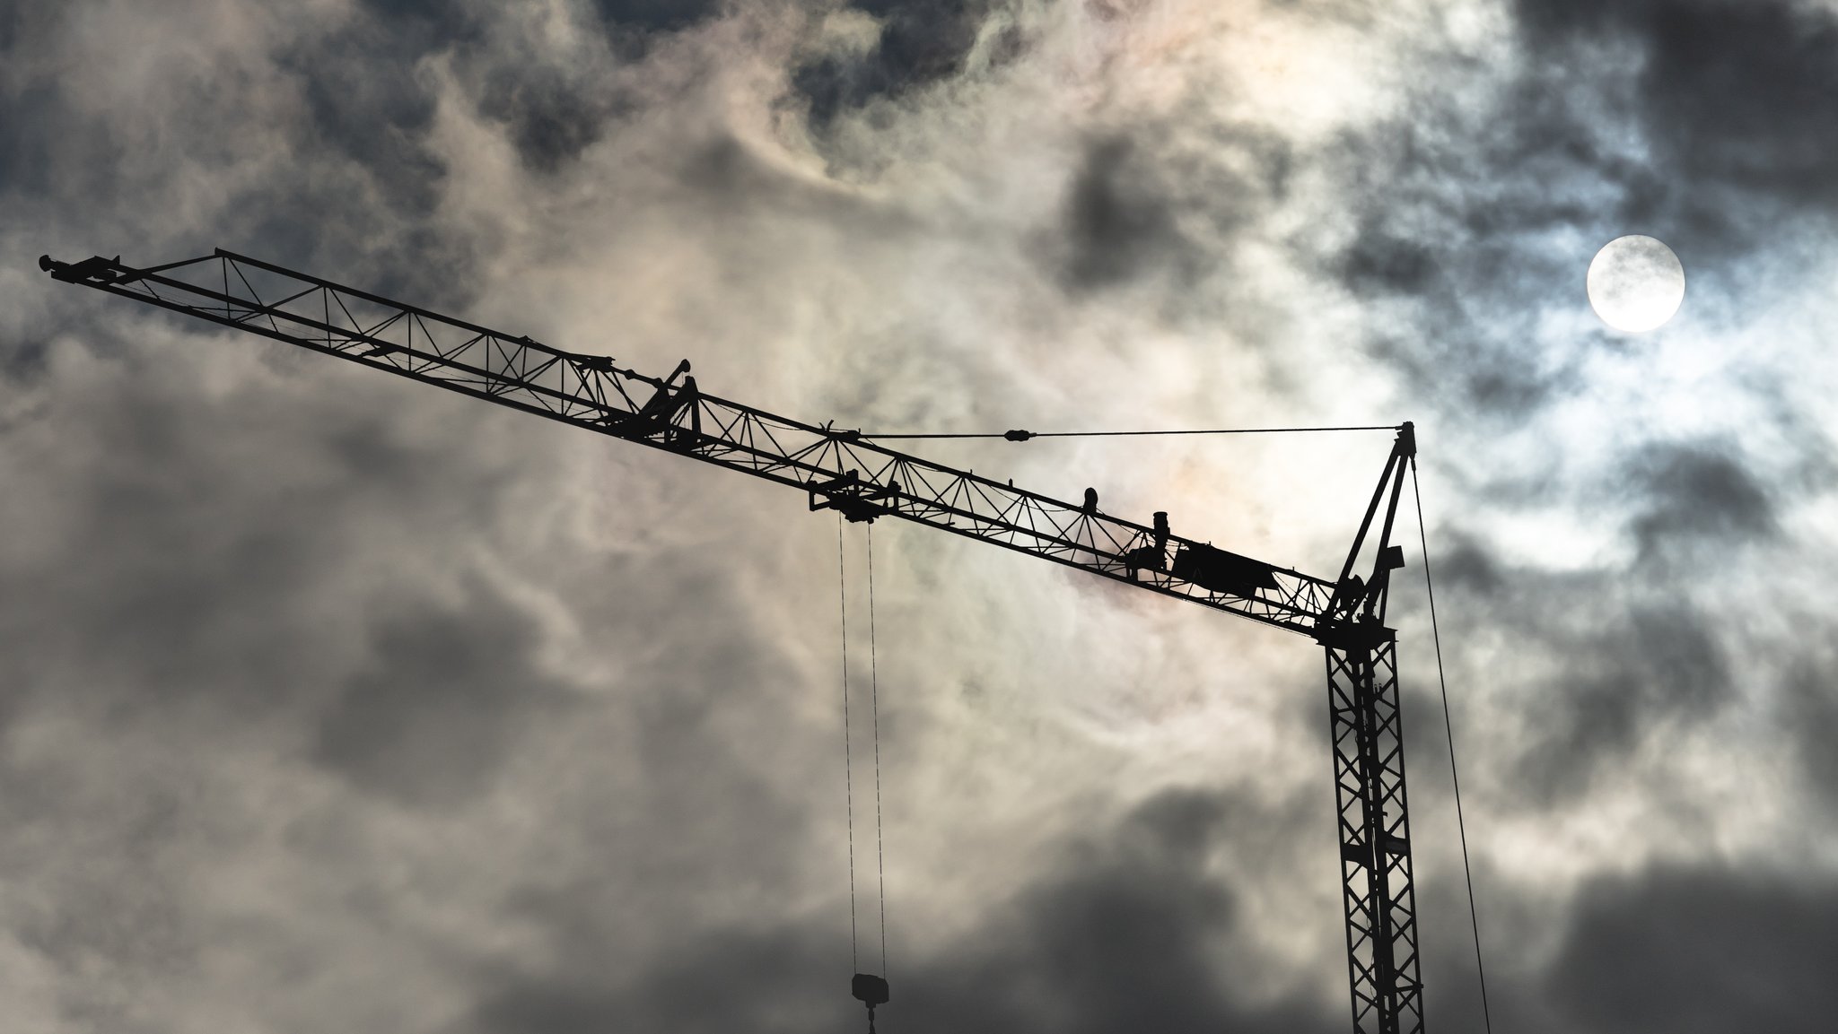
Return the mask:
<svg viewBox="0 0 1838 1034">
<path fill-rule="evenodd" d="M 147 268 L 99 255 L 39 264 L 59 281 L 766 478 L 807 492 L 812 511 L 910 520 L 1312 637 L 1327 654 L 1353 1027 L 1423 1030 L 1397 635 L 1384 624 L 1390 573 L 1402 566 L 1391 525 L 1417 450 L 1410 424 L 1340 577 L 1327 580 L 1173 534 L 1165 514 L 1127 522 L 1099 512 L 1092 494 L 1083 505 L 1051 500 L 860 432 L 704 395 L 687 362 L 649 377 L 222 250 Z"/>
</svg>

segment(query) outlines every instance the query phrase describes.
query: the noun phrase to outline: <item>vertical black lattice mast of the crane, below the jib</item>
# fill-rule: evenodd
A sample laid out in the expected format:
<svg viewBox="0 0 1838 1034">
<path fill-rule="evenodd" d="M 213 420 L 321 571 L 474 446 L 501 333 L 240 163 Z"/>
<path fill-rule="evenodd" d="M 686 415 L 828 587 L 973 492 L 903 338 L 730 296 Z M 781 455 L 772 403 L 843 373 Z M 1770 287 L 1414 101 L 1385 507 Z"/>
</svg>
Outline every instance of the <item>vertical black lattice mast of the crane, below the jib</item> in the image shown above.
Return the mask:
<svg viewBox="0 0 1838 1034">
<path fill-rule="evenodd" d="M 1323 635 L 1340 804 L 1342 904 L 1355 1034 L 1421 1034 L 1417 893 L 1404 808 L 1404 725 L 1390 628 Z"/>
</svg>

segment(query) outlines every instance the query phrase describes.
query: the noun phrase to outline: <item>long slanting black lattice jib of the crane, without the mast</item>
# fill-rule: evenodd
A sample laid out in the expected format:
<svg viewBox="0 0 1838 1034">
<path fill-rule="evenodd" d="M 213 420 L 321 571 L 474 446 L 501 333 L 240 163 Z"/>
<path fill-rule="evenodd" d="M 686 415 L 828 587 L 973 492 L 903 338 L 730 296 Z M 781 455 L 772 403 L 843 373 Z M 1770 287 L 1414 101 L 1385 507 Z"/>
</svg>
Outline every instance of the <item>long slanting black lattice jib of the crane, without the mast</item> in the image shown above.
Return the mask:
<svg viewBox="0 0 1838 1034">
<path fill-rule="evenodd" d="M 812 509 L 926 523 L 1292 632 L 1312 635 L 1333 597 L 1294 569 L 704 395 L 676 380 L 687 364 L 647 377 L 222 250 L 145 270 L 88 259 L 59 279 L 803 489 Z"/>
</svg>

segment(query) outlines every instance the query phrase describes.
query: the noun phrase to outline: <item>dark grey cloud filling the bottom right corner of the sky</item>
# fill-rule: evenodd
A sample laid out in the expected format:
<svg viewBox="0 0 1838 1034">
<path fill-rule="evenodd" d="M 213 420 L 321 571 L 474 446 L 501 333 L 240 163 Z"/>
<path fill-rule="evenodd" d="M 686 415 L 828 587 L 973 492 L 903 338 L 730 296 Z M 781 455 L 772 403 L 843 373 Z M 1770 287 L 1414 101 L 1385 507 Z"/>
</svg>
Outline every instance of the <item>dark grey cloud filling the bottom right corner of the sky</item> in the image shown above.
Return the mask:
<svg viewBox="0 0 1838 1034">
<path fill-rule="evenodd" d="M 1831 1030 L 1838 889 L 1724 869 L 1656 869 L 1583 891 L 1544 983 L 1581 1032 Z"/>
</svg>

